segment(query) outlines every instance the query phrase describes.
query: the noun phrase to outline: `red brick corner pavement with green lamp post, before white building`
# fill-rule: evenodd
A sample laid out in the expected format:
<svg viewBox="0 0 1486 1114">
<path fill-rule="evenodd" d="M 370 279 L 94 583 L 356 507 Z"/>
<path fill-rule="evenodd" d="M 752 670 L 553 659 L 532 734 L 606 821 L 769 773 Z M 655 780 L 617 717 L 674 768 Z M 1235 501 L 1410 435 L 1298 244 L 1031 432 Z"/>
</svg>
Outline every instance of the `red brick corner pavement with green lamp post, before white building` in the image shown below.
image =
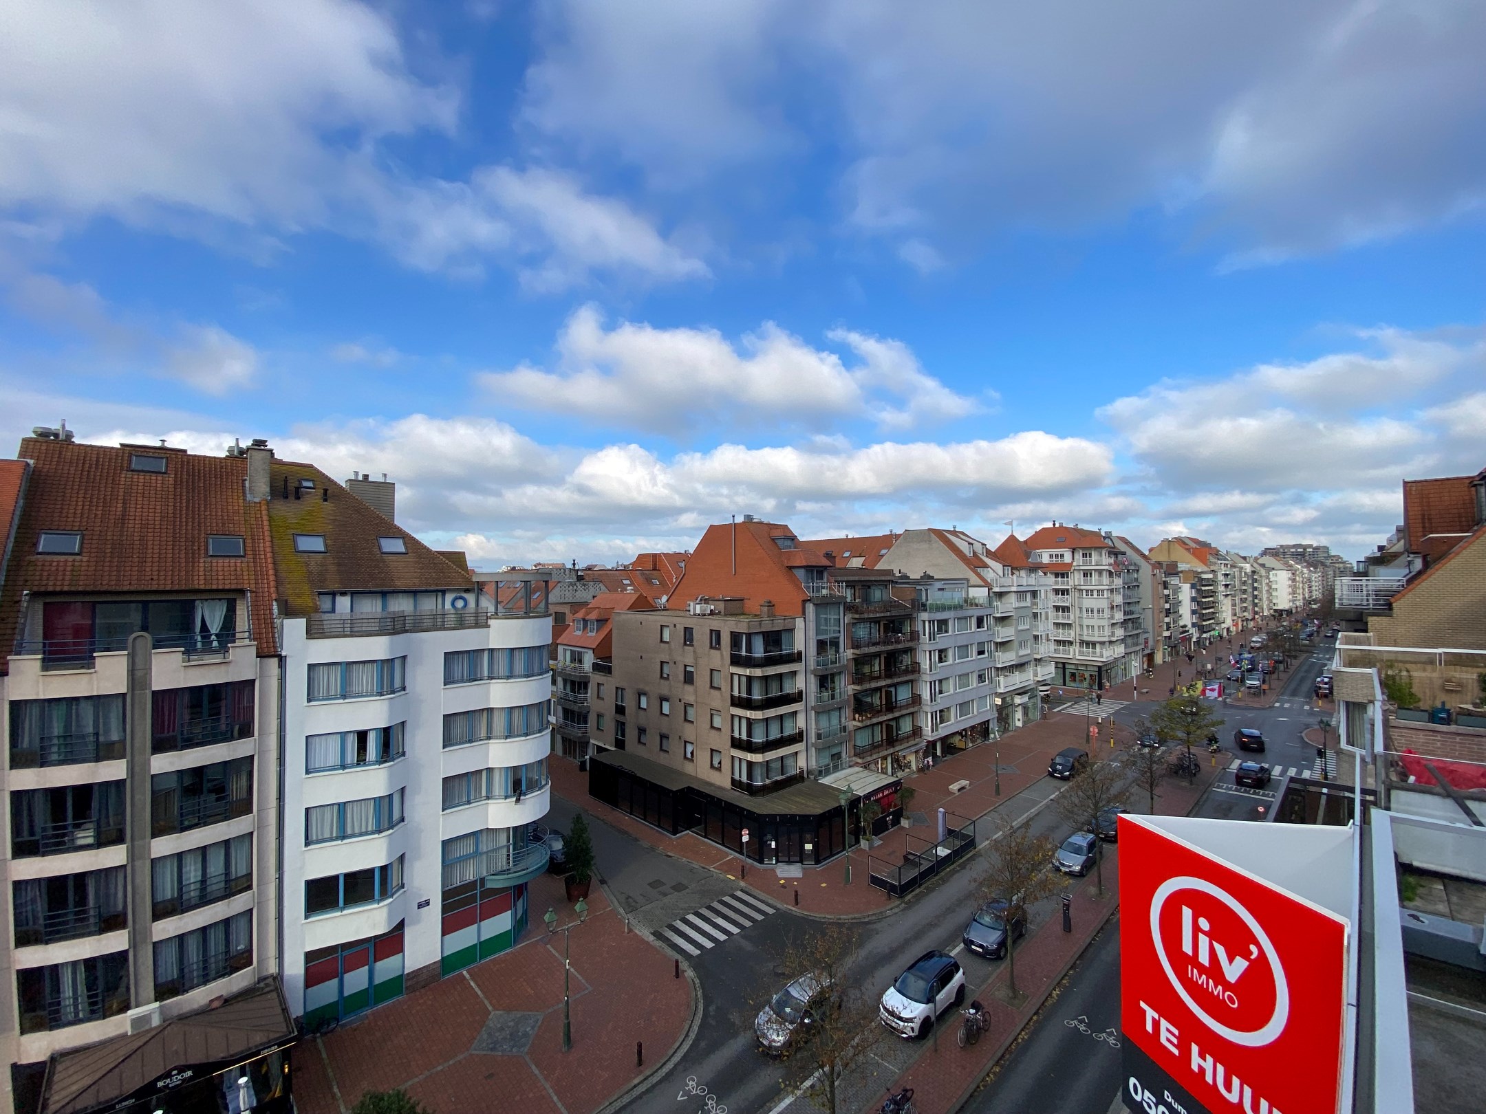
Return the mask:
<svg viewBox="0 0 1486 1114">
<path fill-rule="evenodd" d="M 687 1032 L 691 983 L 609 906 L 599 887 L 572 930 L 572 1052 L 562 1050 L 562 882 L 531 882 L 523 942 L 380 1006 L 294 1052 L 302 1114 L 345 1114 L 367 1090 L 403 1087 L 434 1114 L 591 1114 L 661 1063 Z M 529 1034 L 529 1043 L 528 1041 Z M 645 1066 L 635 1066 L 635 1043 Z M 483 1052 L 492 1044 L 504 1052 Z"/>
</svg>

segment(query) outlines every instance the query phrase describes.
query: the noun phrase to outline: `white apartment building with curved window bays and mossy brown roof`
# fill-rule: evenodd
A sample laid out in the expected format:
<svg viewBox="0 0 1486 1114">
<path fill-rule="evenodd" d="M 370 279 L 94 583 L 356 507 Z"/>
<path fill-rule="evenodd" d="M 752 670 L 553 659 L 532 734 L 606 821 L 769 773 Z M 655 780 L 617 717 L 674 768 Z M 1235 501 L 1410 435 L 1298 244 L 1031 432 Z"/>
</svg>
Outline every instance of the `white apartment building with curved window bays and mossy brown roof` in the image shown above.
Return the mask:
<svg viewBox="0 0 1486 1114">
<path fill-rule="evenodd" d="M 477 584 L 315 466 L 254 452 L 284 655 L 282 977 L 314 1026 L 526 930 L 548 860 L 547 573 Z"/>
</svg>

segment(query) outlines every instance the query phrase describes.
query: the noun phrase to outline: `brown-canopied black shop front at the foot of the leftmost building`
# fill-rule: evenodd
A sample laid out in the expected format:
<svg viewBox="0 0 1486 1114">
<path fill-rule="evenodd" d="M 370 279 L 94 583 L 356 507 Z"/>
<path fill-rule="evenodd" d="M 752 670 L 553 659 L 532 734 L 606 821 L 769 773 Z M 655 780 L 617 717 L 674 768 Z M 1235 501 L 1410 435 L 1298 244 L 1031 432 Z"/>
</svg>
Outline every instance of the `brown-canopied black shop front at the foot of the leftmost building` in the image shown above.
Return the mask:
<svg viewBox="0 0 1486 1114">
<path fill-rule="evenodd" d="M 290 1114 L 294 1019 L 276 977 L 215 1009 L 52 1056 L 37 1114 Z"/>
</svg>

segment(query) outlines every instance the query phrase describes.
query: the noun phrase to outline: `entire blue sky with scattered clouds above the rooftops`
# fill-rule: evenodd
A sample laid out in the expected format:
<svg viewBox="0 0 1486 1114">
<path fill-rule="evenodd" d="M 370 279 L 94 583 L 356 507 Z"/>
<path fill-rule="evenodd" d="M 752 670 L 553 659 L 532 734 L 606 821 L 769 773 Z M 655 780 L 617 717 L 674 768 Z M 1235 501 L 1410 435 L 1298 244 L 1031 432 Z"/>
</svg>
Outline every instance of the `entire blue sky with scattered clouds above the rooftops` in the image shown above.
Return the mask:
<svg viewBox="0 0 1486 1114">
<path fill-rule="evenodd" d="M 388 472 L 480 564 L 1361 556 L 1486 465 L 1486 7 L 22 3 L 6 444 Z"/>
</svg>

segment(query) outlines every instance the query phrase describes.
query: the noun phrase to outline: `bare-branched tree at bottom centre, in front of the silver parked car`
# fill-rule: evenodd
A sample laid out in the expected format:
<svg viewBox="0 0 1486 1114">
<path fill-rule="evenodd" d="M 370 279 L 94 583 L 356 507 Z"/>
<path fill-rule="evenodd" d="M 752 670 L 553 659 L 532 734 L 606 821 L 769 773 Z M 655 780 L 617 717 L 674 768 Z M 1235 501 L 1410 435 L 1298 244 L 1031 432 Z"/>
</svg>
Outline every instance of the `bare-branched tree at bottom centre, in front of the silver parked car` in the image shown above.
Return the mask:
<svg viewBox="0 0 1486 1114">
<path fill-rule="evenodd" d="M 886 1032 L 877 1022 L 877 998 L 853 976 L 860 946 L 860 934 L 850 925 L 811 927 L 785 945 L 780 961 L 791 982 L 811 976 L 819 986 L 796 1025 L 798 1037 L 780 1058 L 780 1086 L 826 1114 L 838 1113 L 841 1080 Z"/>
</svg>

